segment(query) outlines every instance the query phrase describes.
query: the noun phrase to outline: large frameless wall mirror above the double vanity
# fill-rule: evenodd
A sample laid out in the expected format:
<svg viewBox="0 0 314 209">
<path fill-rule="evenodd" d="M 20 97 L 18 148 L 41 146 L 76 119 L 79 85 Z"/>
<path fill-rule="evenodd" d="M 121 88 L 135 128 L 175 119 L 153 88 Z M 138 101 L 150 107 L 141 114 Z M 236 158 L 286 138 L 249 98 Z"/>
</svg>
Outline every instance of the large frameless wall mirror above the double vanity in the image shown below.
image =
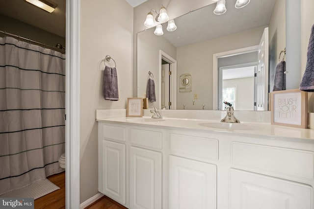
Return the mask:
<svg viewBox="0 0 314 209">
<path fill-rule="evenodd" d="M 286 0 L 251 0 L 241 9 L 235 8 L 235 0 L 228 0 L 223 15 L 213 14 L 215 6 L 176 18 L 173 32 L 163 23 L 161 36 L 154 34 L 155 27 L 137 34 L 137 96 L 145 96 L 151 71 L 157 101 L 150 107 L 217 110 L 224 108 L 222 100 L 227 98 L 233 99 L 236 110 L 268 110 L 267 92 L 273 86 L 279 53 L 286 47 Z M 265 28 L 268 38 L 263 37 Z M 261 50 L 269 54 L 261 55 Z M 265 70 L 264 80 L 255 77 L 261 56 L 267 58 L 263 67 L 270 69 Z M 192 82 L 180 91 L 184 74 L 190 74 Z M 259 109 L 261 85 L 265 100 Z"/>
</svg>

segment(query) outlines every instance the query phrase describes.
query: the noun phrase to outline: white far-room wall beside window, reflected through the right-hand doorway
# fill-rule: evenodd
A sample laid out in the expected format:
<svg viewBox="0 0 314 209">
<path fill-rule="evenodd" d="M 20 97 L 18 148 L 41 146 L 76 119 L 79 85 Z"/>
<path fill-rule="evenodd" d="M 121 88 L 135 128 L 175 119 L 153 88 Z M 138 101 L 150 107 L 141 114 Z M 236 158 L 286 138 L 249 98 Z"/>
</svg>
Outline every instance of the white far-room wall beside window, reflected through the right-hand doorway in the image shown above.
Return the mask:
<svg viewBox="0 0 314 209">
<path fill-rule="evenodd" d="M 235 110 L 254 110 L 254 77 L 223 80 L 222 88 L 235 88 Z"/>
</svg>

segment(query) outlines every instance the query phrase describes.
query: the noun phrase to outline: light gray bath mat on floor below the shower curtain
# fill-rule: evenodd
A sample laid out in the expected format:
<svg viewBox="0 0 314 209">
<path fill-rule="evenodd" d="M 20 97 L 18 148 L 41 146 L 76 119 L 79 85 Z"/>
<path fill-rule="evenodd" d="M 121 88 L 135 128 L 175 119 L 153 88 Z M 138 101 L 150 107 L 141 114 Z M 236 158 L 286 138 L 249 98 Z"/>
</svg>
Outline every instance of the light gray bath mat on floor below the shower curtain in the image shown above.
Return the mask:
<svg viewBox="0 0 314 209">
<path fill-rule="evenodd" d="M 3 197 L 28 197 L 37 199 L 39 197 L 45 196 L 60 187 L 55 186 L 51 181 L 48 179 L 39 180 L 37 182 L 32 183 L 29 186 L 24 188 L 16 189 L 14 191 L 9 191 L 5 194 L 0 195 L 1 198 Z"/>
</svg>

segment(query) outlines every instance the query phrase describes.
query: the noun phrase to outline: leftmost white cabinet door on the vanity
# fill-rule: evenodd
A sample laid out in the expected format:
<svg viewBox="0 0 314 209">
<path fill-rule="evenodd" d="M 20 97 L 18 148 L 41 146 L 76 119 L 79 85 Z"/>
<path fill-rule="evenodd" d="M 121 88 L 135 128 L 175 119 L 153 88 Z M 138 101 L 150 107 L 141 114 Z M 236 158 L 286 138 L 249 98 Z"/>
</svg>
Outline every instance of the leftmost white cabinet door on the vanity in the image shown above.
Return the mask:
<svg viewBox="0 0 314 209">
<path fill-rule="evenodd" d="M 103 191 L 113 200 L 126 203 L 126 145 L 103 140 Z"/>
</svg>

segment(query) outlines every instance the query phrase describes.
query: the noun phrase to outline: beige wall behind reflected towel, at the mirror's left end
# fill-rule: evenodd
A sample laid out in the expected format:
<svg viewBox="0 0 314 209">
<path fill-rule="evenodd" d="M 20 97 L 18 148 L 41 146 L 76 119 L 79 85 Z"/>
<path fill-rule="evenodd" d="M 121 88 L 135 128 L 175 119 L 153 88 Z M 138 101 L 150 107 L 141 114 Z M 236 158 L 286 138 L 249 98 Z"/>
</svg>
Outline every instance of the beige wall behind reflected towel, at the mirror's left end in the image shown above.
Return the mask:
<svg viewBox="0 0 314 209">
<path fill-rule="evenodd" d="M 173 46 L 164 36 L 157 36 L 154 34 L 153 28 L 137 34 L 137 55 L 141 60 L 137 60 L 137 96 L 144 97 L 146 93 L 146 85 L 148 79 L 148 71 L 154 74 L 154 81 L 156 86 L 156 102 L 148 102 L 149 107 L 153 105 L 157 108 L 159 104 L 159 83 L 160 70 L 159 70 L 159 50 L 164 51 L 172 58 L 177 58 L 177 48 Z"/>
</svg>

